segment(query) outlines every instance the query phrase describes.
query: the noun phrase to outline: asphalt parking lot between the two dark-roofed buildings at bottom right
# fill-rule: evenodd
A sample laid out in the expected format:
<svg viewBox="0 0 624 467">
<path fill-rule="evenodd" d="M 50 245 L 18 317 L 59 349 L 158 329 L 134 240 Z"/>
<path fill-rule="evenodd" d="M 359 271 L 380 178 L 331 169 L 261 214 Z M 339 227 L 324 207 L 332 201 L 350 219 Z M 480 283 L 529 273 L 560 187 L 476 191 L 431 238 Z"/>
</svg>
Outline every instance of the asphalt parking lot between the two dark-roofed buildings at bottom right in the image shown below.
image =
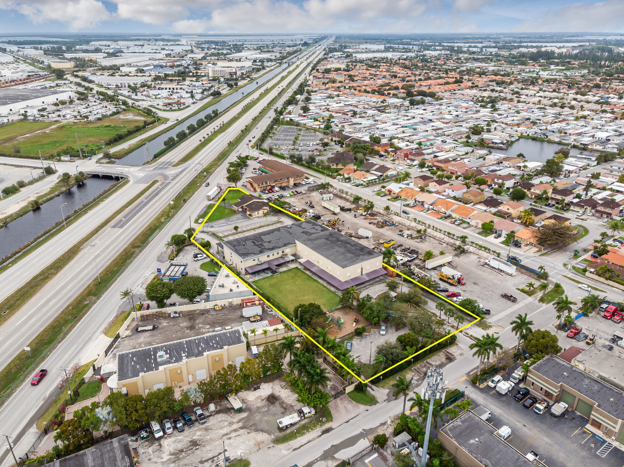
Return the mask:
<svg viewBox="0 0 624 467">
<path fill-rule="evenodd" d="M 505 378 L 508 379 L 508 378 Z M 507 438 L 510 445 L 521 453 L 535 451 L 539 460 L 548 467 L 570 467 L 571 465 L 600 465 L 601 467 L 622 467 L 624 452 L 613 448 L 604 457 L 607 449 L 597 454 L 607 441 L 585 429 L 587 418 L 568 410 L 565 415 L 557 418 L 550 415 L 550 409 L 543 415 L 523 407 L 512 395 L 519 388 L 516 385 L 512 395 L 502 396 L 494 388 L 485 386 L 477 388 L 469 382 L 466 396 L 475 407 L 482 405 L 492 412 L 488 420 L 495 428 L 507 425 L 511 428 L 511 436 Z"/>
</svg>

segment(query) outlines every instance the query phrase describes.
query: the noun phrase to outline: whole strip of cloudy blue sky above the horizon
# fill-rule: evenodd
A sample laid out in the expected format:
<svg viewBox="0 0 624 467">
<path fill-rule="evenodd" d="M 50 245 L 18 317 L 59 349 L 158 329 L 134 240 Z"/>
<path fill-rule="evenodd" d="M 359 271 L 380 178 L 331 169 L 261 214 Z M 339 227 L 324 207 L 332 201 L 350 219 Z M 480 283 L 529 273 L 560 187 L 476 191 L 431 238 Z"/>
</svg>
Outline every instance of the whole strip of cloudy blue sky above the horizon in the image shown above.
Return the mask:
<svg viewBox="0 0 624 467">
<path fill-rule="evenodd" d="M 624 32 L 624 0 L 0 0 L 0 34 Z"/>
</svg>

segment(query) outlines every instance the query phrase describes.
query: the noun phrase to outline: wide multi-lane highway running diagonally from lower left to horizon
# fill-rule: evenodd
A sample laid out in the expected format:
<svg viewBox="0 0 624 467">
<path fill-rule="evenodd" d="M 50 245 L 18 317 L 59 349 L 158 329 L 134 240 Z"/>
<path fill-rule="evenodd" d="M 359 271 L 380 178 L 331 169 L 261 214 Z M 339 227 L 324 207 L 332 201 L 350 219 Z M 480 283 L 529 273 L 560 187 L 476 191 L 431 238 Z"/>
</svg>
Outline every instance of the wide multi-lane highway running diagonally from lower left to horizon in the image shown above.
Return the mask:
<svg viewBox="0 0 624 467">
<path fill-rule="evenodd" d="M 306 64 L 314 62 L 316 57 L 320 54 L 321 47 L 317 46 L 313 49 L 313 53 L 306 57 Z M 298 63 L 301 64 L 301 61 Z M 297 65 L 295 64 L 294 66 Z M 301 65 L 297 68 L 297 72 L 300 69 Z M 290 82 L 293 77 L 294 75 L 289 77 L 287 82 Z M 280 103 L 288 98 L 299 82 L 305 80 L 306 77 L 307 73 L 302 74 L 301 77 L 293 83 L 291 88 L 286 90 Z M 276 77 L 276 79 L 278 79 L 278 77 Z M 270 85 L 271 83 L 268 83 L 267 87 L 270 87 Z M 222 143 L 227 143 L 240 134 L 245 125 L 251 122 L 255 115 L 257 115 L 265 105 L 270 103 L 279 92 L 280 89 L 275 89 L 265 95 L 259 104 L 256 104 L 253 110 L 242 115 L 232 127 L 228 128 L 228 130 L 217 137 L 213 143 L 200 151 L 189 163 L 175 168 L 170 165 L 158 165 L 172 163 L 172 161 L 179 159 L 192 147 L 190 142 L 188 142 L 188 145 L 186 145 L 185 142 L 173 150 L 176 151 L 176 153 L 172 151 L 172 153 L 160 158 L 154 165 L 132 168 L 133 171 L 130 171 L 129 175 L 133 183 L 130 184 L 129 187 L 135 185 L 144 186 L 139 185 L 136 181 L 141 180 L 148 171 L 154 170 L 157 173 L 165 174 L 169 177 L 169 188 L 165 188 L 161 196 L 156 196 L 151 201 L 148 201 L 147 197 L 144 198 L 145 201 L 140 201 L 139 205 L 142 205 L 142 208 L 134 209 L 134 217 L 130 219 L 128 223 L 118 224 L 117 228 L 111 225 L 104 229 L 102 233 L 97 235 L 85 246 L 76 259 L 58 274 L 54 281 L 44 287 L 36 297 L 26 304 L 26 306 L 22 307 L 6 324 L 0 327 L 0 342 L 2 342 L 2 344 L 0 344 L 0 362 L 2 366 L 6 365 L 6 362 L 9 361 L 12 356 L 16 355 L 24 345 L 30 342 L 30 340 L 36 336 L 37 332 L 39 332 L 54 315 L 61 312 L 71 301 L 72 297 L 76 296 L 90 281 L 94 280 L 96 277 L 94 260 L 96 255 L 97 265 L 101 270 L 115 258 L 130 239 L 134 238 L 142 228 L 144 228 L 145 224 L 162 210 L 163 206 L 167 205 L 167 203 L 177 195 L 182 186 L 192 180 L 193 176 L 196 174 L 196 170 L 201 170 L 198 163 L 202 162 L 206 164 L 215 158 L 222 148 Z M 241 102 L 241 105 L 245 104 L 245 102 L 248 102 L 248 99 Z M 238 112 L 241 105 L 235 106 L 233 112 Z M 230 113 L 230 115 L 235 115 L 235 113 L 228 113 Z M 270 122 L 270 118 L 263 118 L 258 124 L 260 128 L 253 131 L 251 134 L 259 135 L 268 122 Z M 217 123 L 215 123 L 215 125 L 216 124 Z M 245 147 L 246 142 L 242 142 L 239 149 L 241 150 Z M 233 154 L 234 153 L 232 153 L 229 160 L 235 158 Z M 106 168 L 109 169 L 110 166 Z M 226 168 L 227 161 L 213 171 L 208 178 L 211 186 L 217 183 L 223 183 L 225 175 L 227 175 Z M 124 171 L 125 170 L 127 170 L 127 168 L 124 169 Z M 152 177 L 152 179 L 153 178 L 154 177 Z M 160 186 L 162 185 L 165 184 L 162 183 Z M 124 199 L 127 200 L 127 197 Z M 2 433 L 15 437 L 14 444 L 16 445 L 17 455 L 22 455 L 37 436 L 36 430 L 33 430 L 32 425 L 37 420 L 38 416 L 41 415 L 41 408 L 44 407 L 49 395 L 56 390 L 57 384 L 59 383 L 59 368 L 71 367 L 74 364 L 89 362 L 97 358 L 97 355 L 104 349 L 103 345 L 106 345 L 101 330 L 113 317 L 115 311 L 119 309 L 121 303 L 119 291 L 126 287 L 131 287 L 135 292 L 139 291 L 145 279 L 152 277 L 156 267 L 162 264 L 157 261 L 157 257 L 164 251 L 165 243 L 170 236 L 172 234 L 181 233 L 188 225 L 188 218 L 194 217 L 195 214 L 205 206 L 205 203 L 205 190 L 200 188 L 195 195 L 188 199 L 187 203 L 183 205 L 178 214 L 169 223 L 165 224 L 160 233 L 158 233 L 137 258 L 132 261 L 130 266 L 120 274 L 108 291 L 95 302 L 94 306 L 87 312 L 87 315 L 80 320 L 79 324 L 67 335 L 66 339 L 64 339 L 52 354 L 46 358 L 41 367 L 48 368 L 50 372 L 49 376 L 37 387 L 31 387 L 29 382 L 25 382 L 0 408 L 0 425 L 5 427 Z M 107 204 L 109 204 L 109 201 L 104 203 L 104 206 Z M 120 216 L 120 218 L 124 218 L 124 215 Z M 69 232 L 69 228 L 67 230 Z M 11 268 L 11 270 L 12 269 L 14 268 Z M 0 460 L 4 460 L 2 465 L 11 465 L 12 460 L 9 458 L 7 458 L 7 451 L 2 450 L 0 454 Z"/>
</svg>

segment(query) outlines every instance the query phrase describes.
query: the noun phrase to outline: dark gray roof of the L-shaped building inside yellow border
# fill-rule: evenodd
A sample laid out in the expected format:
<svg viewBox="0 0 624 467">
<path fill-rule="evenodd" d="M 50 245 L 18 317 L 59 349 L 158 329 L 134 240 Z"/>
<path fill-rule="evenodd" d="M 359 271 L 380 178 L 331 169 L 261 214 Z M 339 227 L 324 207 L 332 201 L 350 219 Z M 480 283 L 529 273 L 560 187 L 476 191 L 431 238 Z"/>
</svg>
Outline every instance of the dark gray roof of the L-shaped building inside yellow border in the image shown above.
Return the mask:
<svg viewBox="0 0 624 467">
<path fill-rule="evenodd" d="M 277 249 L 291 248 L 295 246 L 295 241 L 300 241 L 340 267 L 353 266 L 376 257 L 381 258 L 381 253 L 311 220 L 224 241 L 223 245 L 240 258 L 247 259 Z"/>
</svg>

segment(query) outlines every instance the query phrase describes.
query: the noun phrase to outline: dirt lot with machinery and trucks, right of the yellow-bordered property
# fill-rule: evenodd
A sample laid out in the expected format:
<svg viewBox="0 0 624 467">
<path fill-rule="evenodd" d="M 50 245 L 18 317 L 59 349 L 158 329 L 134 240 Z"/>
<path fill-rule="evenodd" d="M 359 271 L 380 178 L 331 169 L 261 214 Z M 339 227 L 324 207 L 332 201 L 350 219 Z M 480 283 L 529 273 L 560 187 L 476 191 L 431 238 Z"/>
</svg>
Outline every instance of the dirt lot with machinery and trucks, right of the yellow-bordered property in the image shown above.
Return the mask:
<svg viewBox="0 0 624 467">
<path fill-rule="evenodd" d="M 298 208 L 306 208 L 305 201 L 311 201 L 314 205 L 313 211 L 321 215 L 321 219 L 319 219 L 320 223 L 325 224 L 330 219 L 340 218 L 341 222 L 339 226 L 344 231 L 351 231 L 352 233 L 357 233 L 358 229 L 367 229 L 373 233 L 372 238 L 364 238 L 358 239 L 359 242 L 369 246 L 370 248 L 376 248 L 378 251 L 382 251 L 384 249 L 383 244 L 381 242 L 386 241 L 388 239 L 393 239 L 396 243 L 392 246 L 392 248 L 396 249 L 397 253 L 400 253 L 400 249 L 406 246 L 410 248 L 414 248 L 419 251 L 420 256 L 424 254 L 425 251 L 431 250 L 434 255 L 438 255 L 441 251 L 446 253 L 452 253 L 454 245 L 443 243 L 441 241 L 437 241 L 431 236 L 427 236 L 427 239 L 422 240 L 411 240 L 407 238 L 403 238 L 399 236 L 399 229 L 404 229 L 404 231 L 411 231 L 415 233 L 417 228 L 421 228 L 418 224 L 414 224 L 413 229 L 407 229 L 404 227 L 386 227 L 383 229 L 376 228 L 374 225 L 369 224 L 371 221 L 369 219 L 364 219 L 361 216 L 361 213 L 357 213 L 358 217 L 355 218 L 355 212 L 344 212 L 340 211 L 339 214 L 334 214 L 329 209 L 323 208 L 321 206 L 321 195 L 318 192 L 308 192 L 305 195 L 296 196 L 296 198 L 291 197 L 288 198 L 288 201 L 297 206 Z M 345 201 L 337 196 L 334 196 L 333 200 L 330 200 L 329 203 L 334 206 L 346 206 L 348 208 L 354 208 L 354 205 Z M 510 306 L 515 304 L 511 304 L 509 301 L 500 297 L 502 292 L 509 292 L 518 298 L 518 302 L 520 303 L 529 297 L 522 292 L 516 290 L 516 288 L 524 287 L 525 284 L 529 281 L 536 282 L 535 279 L 530 278 L 529 276 L 525 276 L 521 269 L 518 269 L 516 272 L 516 276 L 507 276 L 507 274 L 502 274 L 496 271 L 492 271 L 491 269 L 482 266 L 485 259 L 480 258 L 479 256 L 472 253 L 464 253 L 460 256 L 453 256 L 453 260 L 449 265 L 456 271 L 459 271 L 463 274 L 464 279 L 466 279 L 466 285 L 464 286 L 451 286 L 451 284 L 446 284 L 444 282 L 440 282 L 440 285 L 443 287 L 447 287 L 451 291 L 459 291 L 462 294 L 462 297 L 472 298 L 477 300 L 479 303 L 484 305 L 484 308 L 490 309 L 492 314 L 490 317 L 487 317 L 485 320 L 495 320 L 497 314 L 500 314 L 504 311 L 507 311 Z M 442 269 L 442 266 L 438 266 L 435 269 L 424 269 L 424 261 L 421 259 L 416 259 L 415 261 L 408 262 L 406 264 L 411 264 L 414 267 L 425 271 L 427 274 L 437 279 L 437 273 Z"/>
</svg>

